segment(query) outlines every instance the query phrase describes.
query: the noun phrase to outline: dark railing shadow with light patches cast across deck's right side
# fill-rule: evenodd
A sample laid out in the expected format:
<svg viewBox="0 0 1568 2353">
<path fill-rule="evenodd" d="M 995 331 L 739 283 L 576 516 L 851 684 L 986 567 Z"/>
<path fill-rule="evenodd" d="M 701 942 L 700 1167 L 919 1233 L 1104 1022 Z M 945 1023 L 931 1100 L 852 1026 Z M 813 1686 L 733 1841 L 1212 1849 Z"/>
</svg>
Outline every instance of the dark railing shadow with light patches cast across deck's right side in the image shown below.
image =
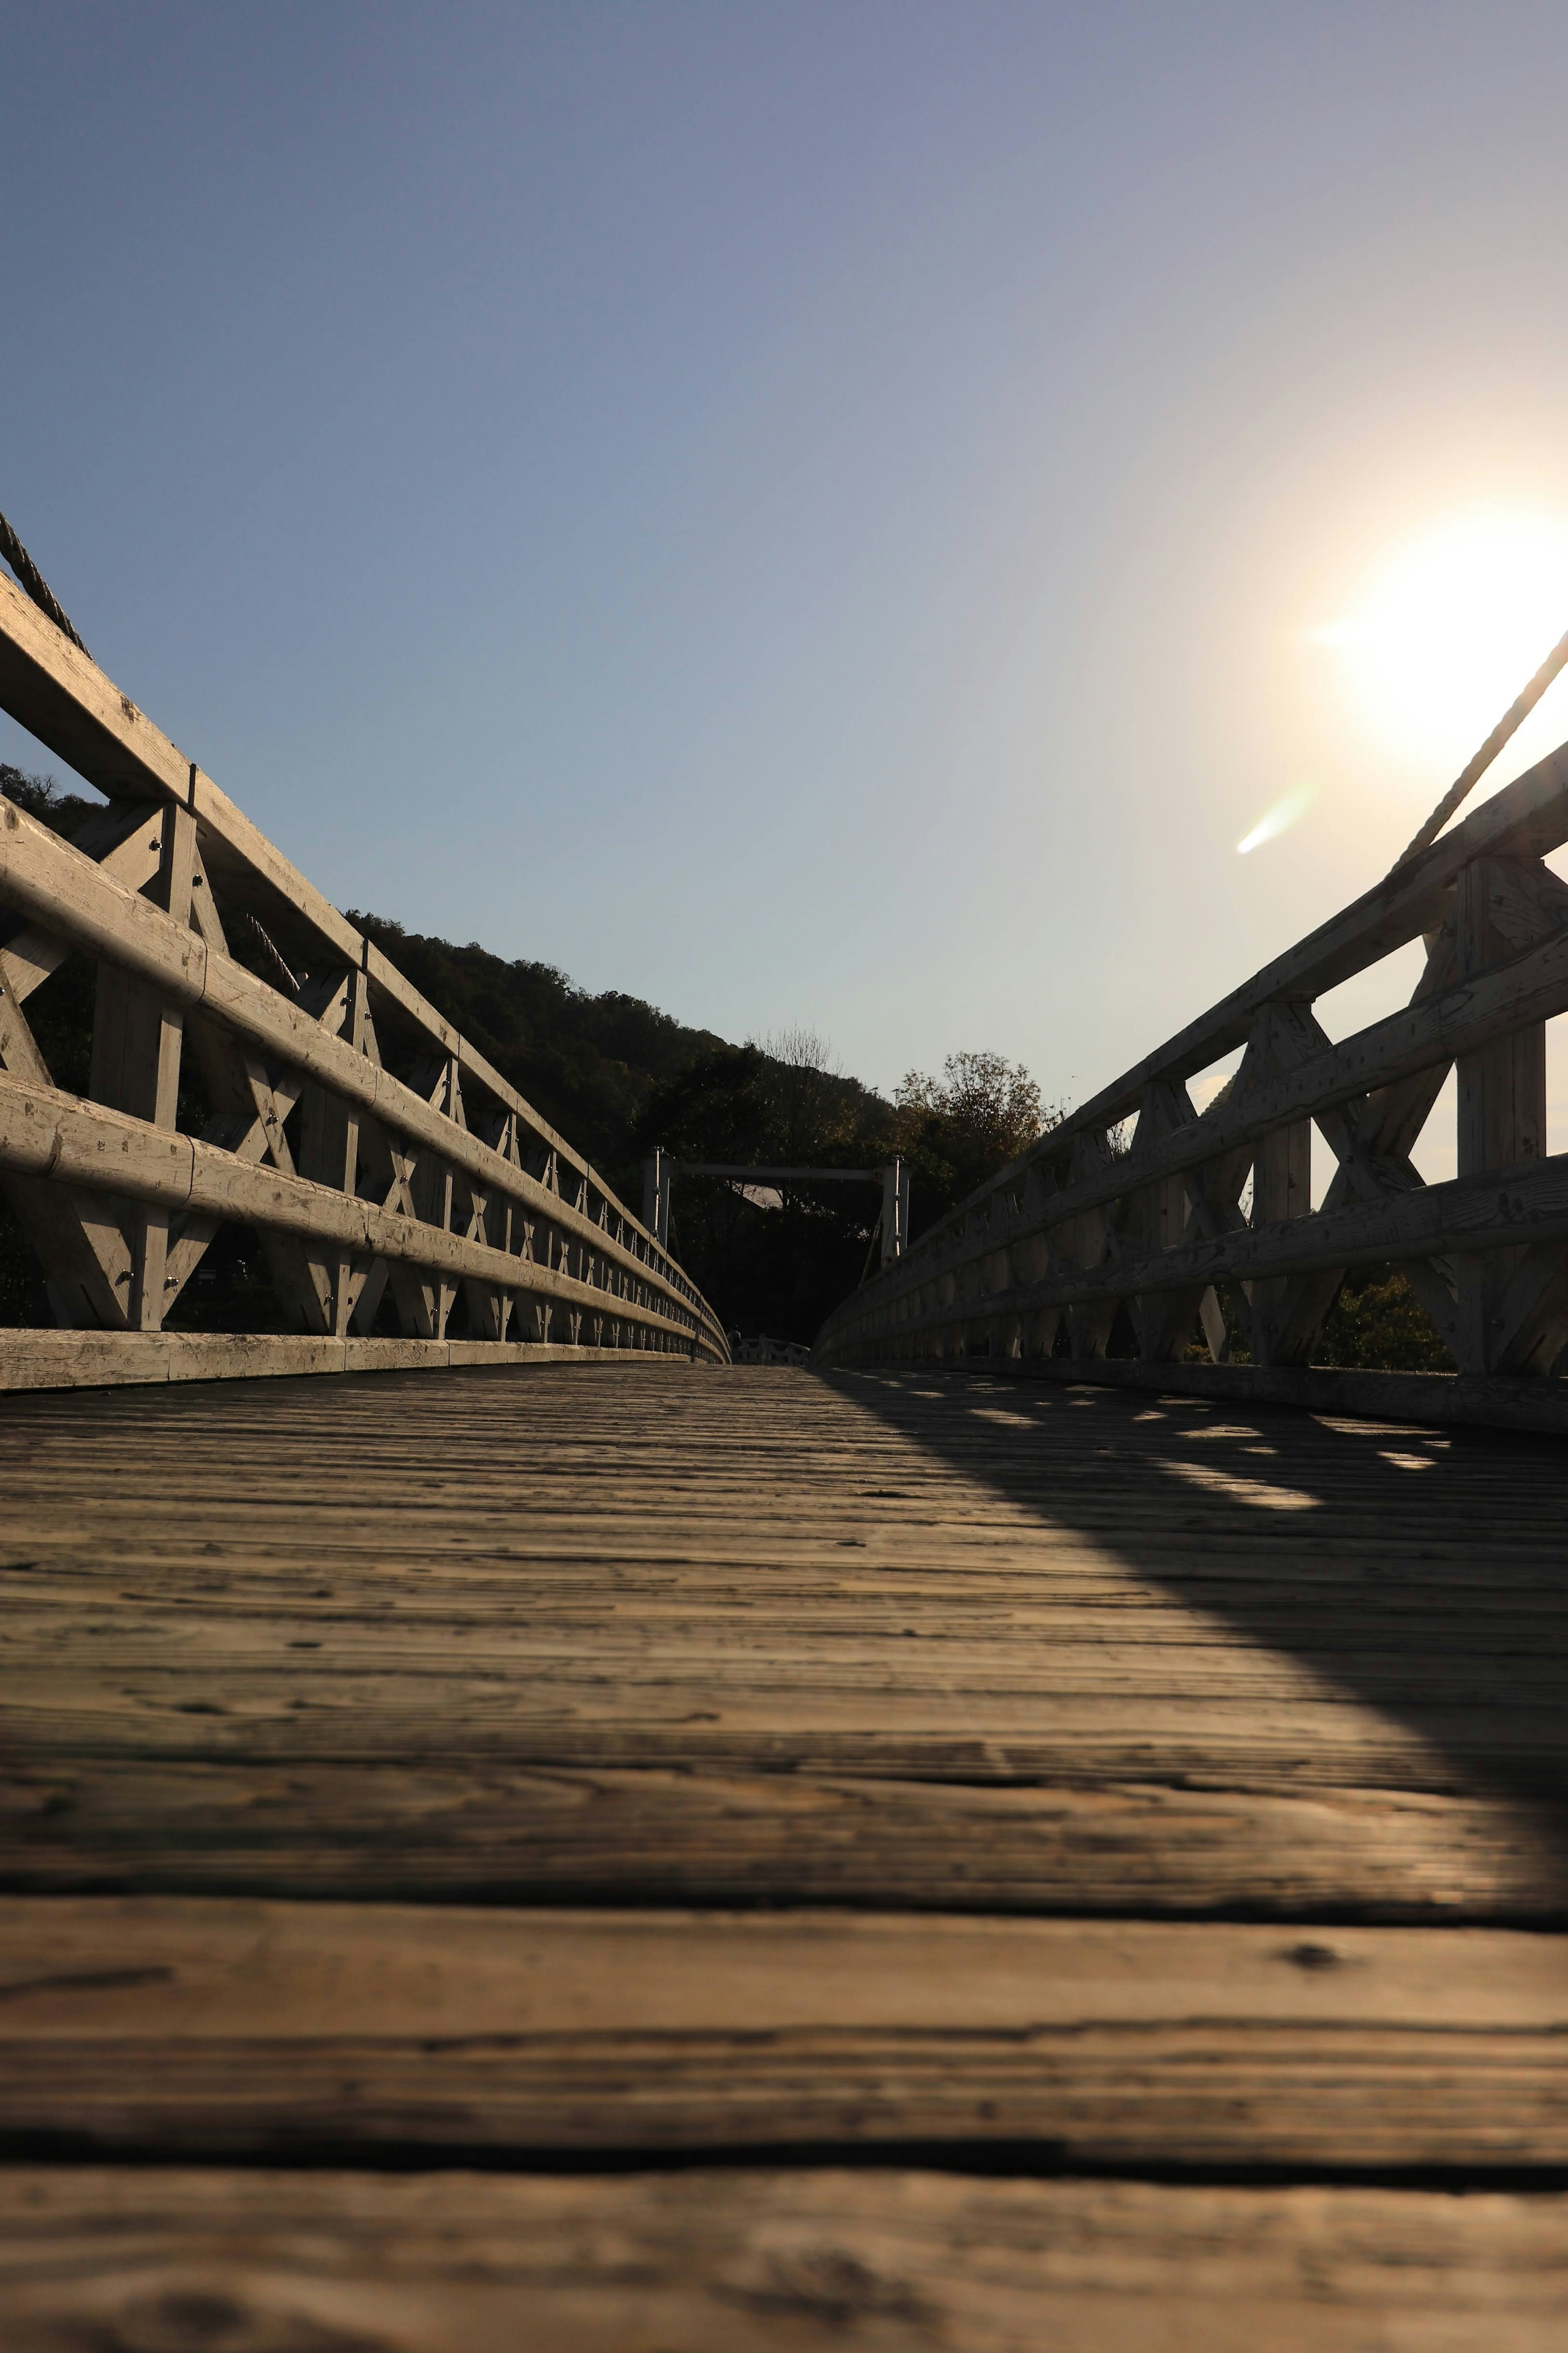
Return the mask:
<svg viewBox="0 0 1568 2353">
<path fill-rule="evenodd" d="M 980 1369 L 825 1379 L 1041 1527 L 1378 1711 L 1403 1734 L 1387 1786 L 1507 1795 L 1568 1857 L 1561 1440 Z M 1187 1661 L 1173 1654 L 1173 1689 L 1185 1673 L 1201 1697 L 1201 1645 Z M 1159 1751 L 1152 1727 L 1150 1779 Z"/>
</svg>

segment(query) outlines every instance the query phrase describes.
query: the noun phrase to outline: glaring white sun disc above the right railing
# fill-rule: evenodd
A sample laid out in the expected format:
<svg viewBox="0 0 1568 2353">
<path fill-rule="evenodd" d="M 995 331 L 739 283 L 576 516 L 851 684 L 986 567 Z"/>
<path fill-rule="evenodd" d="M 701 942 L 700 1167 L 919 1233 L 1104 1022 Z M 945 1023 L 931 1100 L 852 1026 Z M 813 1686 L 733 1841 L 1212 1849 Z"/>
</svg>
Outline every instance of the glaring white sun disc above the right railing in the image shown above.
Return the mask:
<svg viewBox="0 0 1568 2353">
<path fill-rule="evenodd" d="M 1408 541 L 1312 638 L 1392 751 L 1460 769 L 1563 631 L 1568 518 L 1472 506 Z"/>
</svg>

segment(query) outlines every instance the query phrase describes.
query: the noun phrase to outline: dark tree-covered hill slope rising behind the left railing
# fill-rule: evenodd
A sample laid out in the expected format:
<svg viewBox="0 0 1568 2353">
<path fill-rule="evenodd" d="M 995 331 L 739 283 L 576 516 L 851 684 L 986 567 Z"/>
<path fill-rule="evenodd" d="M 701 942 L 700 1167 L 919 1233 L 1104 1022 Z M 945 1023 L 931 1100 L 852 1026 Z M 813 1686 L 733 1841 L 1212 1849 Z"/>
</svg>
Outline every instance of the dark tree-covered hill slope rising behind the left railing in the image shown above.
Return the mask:
<svg viewBox="0 0 1568 2353">
<path fill-rule="evenodd" d="M 686 1028 L 618 988 L 576 988 L 555 965 L 491 955 L 477 941 L 458 948 L 355 908 L 348 920 L 611 1179 L 625 1176 L 654 1087 L 724 1047 L 715 1031 Z"/>
</svg>

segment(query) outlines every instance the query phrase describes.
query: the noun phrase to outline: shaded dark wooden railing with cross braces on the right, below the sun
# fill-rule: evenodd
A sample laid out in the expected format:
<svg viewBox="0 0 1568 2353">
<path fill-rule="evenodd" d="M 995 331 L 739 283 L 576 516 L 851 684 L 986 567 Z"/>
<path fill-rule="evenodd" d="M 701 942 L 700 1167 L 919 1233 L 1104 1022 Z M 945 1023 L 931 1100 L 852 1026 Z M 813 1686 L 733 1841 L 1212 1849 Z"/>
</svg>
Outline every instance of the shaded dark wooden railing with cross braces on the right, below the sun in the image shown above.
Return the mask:
<svg viewBox="0 0 1568 2353">
<path fill-rule="evenodd" d="M 1547 1155 L 1544 1054 L 1568 1009 L 1568 887 L 1542 864 L 1563 840 L 1568 746 L 971 1193 L 827 1318 L 813 1360 L 1568 1426 L 1568 1155 Z M 1408 1007 L 1335 1045 L 1314 1000 L 1415 939 Z M 1187 1080 L 1237 1049 L 1199 1113 Z M 1453 1068 L 1458 1176 L 1422 1184 L 1410 1151 Z M 1316 1209 L 1314 1125 L 1335 1160 Z M 1312 1367 L 1345 1273 L 1380 1261 L 1453 1377 Z M 1121 1304 L 1135 1353 L 1112 1358 Z"/>
</svg>

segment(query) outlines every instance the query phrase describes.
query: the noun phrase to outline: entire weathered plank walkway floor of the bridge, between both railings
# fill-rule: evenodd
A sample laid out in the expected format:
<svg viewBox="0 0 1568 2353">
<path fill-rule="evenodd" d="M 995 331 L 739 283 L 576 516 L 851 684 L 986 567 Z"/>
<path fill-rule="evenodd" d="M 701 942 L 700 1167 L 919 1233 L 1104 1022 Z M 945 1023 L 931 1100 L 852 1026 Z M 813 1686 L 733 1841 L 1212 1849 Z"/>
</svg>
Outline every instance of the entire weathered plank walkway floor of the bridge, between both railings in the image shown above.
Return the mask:
<svg viewBox="0 0 1568 2353">
<path fill-rule="evenodd" d="M 1568 2346 L 1559 1440 L 0 1402 L 0 2344 Z"/>
</svg>

